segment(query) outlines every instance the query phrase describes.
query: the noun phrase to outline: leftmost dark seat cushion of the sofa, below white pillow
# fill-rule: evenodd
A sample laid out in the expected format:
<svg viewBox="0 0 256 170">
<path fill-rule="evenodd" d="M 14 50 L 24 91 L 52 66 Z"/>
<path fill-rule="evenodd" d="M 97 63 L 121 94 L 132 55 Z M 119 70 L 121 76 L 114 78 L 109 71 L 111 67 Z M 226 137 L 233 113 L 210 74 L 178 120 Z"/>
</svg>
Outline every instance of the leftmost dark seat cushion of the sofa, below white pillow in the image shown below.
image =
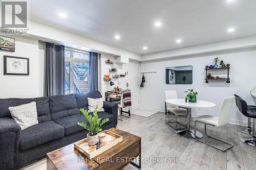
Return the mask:
<svg viewBox="0 0 256 170">
<path fill-rule="evenodd" d="M 64 128 L 52 121 L 39 123 L 21 131 L 19 149 L 27 150 L 64 136 Z"/>
</svg>

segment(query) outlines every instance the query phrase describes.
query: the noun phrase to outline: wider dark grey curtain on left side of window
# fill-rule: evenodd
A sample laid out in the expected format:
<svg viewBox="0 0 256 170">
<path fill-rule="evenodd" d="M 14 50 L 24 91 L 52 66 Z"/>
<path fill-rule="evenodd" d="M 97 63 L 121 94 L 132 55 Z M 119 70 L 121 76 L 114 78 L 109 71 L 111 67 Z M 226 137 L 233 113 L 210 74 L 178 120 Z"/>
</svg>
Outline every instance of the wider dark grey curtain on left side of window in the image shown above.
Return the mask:
<svg viewBox="0 0 256 170">
<path fill-rule="evenodd" d="M 65 46 L 46 42 L 45 96 L 65 94 Z"/>
</svg>

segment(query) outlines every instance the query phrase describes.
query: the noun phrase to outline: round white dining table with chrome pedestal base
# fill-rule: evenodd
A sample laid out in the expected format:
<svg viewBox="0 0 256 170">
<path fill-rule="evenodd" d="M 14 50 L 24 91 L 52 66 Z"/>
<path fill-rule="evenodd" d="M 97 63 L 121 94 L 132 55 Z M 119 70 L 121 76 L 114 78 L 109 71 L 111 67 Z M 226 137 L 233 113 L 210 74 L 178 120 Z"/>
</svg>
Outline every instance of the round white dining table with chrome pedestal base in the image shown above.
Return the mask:
<svg viewBox="0 0 256 170">
<path fill-rule="evenodd" d="M 197 100 L 196 103 L 185 102 L 185 99 L 167 99 L 165 103 L 168 103 L 173 106 L 187 108 L 187 127 L 176 129 L 176 133 L 188 138 L 195 138 L 194 129 L 190 127 L 191 108 L 207 109 L 207 108 L 212 108 L 216 106 L 215 103 L 201 101 L 201 100 Z M 202 138 L 203 134 L 197 131 L 197 137 Z"/>
</svg>

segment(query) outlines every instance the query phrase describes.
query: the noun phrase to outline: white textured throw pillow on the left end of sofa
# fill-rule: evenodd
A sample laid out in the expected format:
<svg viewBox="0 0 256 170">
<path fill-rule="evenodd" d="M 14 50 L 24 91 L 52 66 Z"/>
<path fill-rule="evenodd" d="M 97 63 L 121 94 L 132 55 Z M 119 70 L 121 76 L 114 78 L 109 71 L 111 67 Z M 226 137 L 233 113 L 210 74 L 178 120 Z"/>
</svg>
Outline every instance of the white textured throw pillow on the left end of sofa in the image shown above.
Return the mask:
<svg viewBox="0 0 256 170">
<path fill-rule="evenodd" d="M 22 130 L 38 124 L 35 102 L 9 107 L 8 109 L 11 112 L 12 118 L 20 126 L 20 128 L 22 128 Z"/>
</svg>

